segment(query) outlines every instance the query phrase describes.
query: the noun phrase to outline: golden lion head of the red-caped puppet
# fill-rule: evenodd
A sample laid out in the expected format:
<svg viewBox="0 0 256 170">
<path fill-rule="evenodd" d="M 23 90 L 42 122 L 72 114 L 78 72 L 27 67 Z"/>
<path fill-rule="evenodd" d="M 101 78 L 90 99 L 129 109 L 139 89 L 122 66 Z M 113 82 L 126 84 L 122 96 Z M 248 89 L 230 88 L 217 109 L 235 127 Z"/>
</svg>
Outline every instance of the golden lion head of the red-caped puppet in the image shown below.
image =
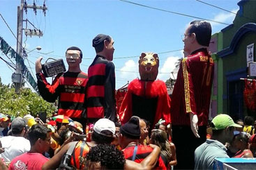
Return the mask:
<svg viewBox="0 0 256 170">
<path fill-rule="evenodd" d="M 158 76 L 159 59 L 156 53 L 142 53 L 139 60 L 141 80 L 156 80 Z"/>
</svg>

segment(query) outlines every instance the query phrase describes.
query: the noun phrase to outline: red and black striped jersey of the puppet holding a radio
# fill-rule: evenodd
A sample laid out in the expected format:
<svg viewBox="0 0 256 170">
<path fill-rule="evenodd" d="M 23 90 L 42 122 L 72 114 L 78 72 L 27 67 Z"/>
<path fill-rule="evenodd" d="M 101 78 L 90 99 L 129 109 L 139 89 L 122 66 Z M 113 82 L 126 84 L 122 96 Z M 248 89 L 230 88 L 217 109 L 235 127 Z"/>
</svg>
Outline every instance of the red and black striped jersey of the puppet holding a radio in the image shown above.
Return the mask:
<svg viewBox="0 0 256 170">
<path fill-rule="evenodd" d="M 48 102 L 54 102 L 59 97 L 58 114 L 70 118 L 80 118 L 84 111 L 87 74 L 84 72 L 69 72 L 59 74 L 52 85 L 47 83 L 44 74 L 37 74 L 38 90 Z"/>
</svg>

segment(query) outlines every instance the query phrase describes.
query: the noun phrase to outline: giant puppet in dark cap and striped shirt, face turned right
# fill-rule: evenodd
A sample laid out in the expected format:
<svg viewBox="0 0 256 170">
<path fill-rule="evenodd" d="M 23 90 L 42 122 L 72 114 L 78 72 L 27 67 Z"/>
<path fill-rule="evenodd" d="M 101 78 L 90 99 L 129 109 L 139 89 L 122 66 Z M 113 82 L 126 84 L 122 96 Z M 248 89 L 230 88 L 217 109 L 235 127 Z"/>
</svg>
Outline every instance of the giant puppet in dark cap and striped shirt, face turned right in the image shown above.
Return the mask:
<svg viewBox="0 0 256 170">
<path fill-rule="evenodd" d="M 116 121 L 114 40 L 110 35 L 99 34 L 93 38 L 96 57 L 88 69 L 86 91 L 86 117 L 95 122 L 100 118 Z"/>
</svg>

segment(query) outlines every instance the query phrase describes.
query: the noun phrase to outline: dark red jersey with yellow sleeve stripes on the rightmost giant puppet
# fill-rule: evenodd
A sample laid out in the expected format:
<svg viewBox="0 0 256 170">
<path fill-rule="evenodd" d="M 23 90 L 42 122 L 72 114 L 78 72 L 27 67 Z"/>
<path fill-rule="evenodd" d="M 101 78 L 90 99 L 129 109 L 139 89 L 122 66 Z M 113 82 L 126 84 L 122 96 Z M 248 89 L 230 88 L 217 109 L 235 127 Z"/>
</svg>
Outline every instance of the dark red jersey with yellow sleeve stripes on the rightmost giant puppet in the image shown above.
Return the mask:
<svg viewBox="0 0 256 170">
<path fill-rule="evenodd" d="M 206 126 L 213 83 L 213 59 L 206 49 L 183 58 L 172 93 L 172 125 L 189 126 L 189 113 L 197 114 L 198 126 Z"/>
</svg>

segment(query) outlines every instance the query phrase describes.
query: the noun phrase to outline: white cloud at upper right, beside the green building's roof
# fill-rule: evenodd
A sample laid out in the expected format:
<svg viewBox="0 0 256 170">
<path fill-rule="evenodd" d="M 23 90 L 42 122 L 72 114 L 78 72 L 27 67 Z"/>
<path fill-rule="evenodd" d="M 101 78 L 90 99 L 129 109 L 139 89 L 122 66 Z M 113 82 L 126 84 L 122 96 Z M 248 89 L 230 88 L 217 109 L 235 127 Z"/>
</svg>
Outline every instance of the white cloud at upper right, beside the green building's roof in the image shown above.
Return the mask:
<svg viewBox="0 0 256 170">
<path fill-rule="evenodd" d="M 239 9 L 235 9 L 235 10 L 232 10 L 232 12 L 236 13 L 238 10 Z M 236 15 L 234 15 L 232 13 L 220 12 L 220 13 L 218 13 L 218 15 L 213 17 L 213 19 L 211 19 L 211 20 L 231 24 L 234 20 L 234 17 L 236 17 Z M 212 27 L 220 25 L 216 22 L 210 22 L 210 23 L 211 23 Z"/>
</svg>

